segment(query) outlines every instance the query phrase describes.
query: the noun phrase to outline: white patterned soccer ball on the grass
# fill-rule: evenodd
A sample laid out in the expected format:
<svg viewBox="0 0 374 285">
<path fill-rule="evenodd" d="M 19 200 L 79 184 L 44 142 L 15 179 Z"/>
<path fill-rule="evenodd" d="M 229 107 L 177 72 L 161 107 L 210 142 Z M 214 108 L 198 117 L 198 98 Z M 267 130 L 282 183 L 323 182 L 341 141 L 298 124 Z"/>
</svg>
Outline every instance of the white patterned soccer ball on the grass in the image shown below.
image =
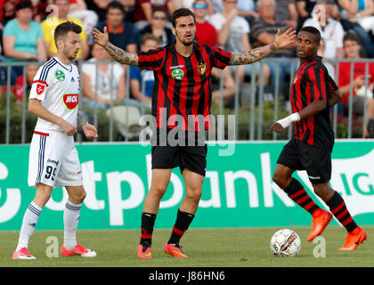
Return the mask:
<svg viewBox="0 0 374 285">
<path fill-rule="evenodd" d="M 301 240 L 296 232 L 281 229 L 272 235 L 270 248 L 274 256 L 296 256 L 301 248 Z"/>
</svg>

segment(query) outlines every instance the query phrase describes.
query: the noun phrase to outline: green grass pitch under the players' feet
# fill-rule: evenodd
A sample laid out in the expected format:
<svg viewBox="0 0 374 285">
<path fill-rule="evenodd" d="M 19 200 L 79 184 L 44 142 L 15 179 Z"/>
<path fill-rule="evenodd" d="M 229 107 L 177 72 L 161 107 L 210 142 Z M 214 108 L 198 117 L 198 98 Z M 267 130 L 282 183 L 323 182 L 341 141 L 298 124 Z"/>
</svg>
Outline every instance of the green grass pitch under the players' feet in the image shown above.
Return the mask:
<svg viewBox="0 0 374 285">
<path fill-rule="evenodd" d="M 136 256 L 139 230 L 78 231 L 77 240 L 97 252 L 94 258 L 61 256 L 62 231 L 36 231 L 29 242 L 29 251 L 37 260 L 12 260 L 19 232 L 0 232 L 0 267 L 59 266 L 59 267 L 372 267 L 374 247 L 371 237 L 373 226 L 364 226 L 368 240 L 353 251 L 338 251 L 344 244 L 346 230 L 329 226 L 323 232 L 326 240 L 326 256 L 315 257 L 316 247 L 321 243 L 307 242 L 311 227 L 291 227 L 301 238 L 301 250 L 295 257 L 272 256 L 270 239 L 280 229 L 273 228 L 191 228 L 181 240 L 183 250 L 189 258 L 174 258 L 164 253 L 164 245 L 170 230 L 156 229 L 153 232 L 152 259 L 140 260 Z M 47 257 L 51 244 L 47 237 L 58 240 L 58 257 Z M 321 251 L 319 251 L 321 252 Z"/>
</svg>

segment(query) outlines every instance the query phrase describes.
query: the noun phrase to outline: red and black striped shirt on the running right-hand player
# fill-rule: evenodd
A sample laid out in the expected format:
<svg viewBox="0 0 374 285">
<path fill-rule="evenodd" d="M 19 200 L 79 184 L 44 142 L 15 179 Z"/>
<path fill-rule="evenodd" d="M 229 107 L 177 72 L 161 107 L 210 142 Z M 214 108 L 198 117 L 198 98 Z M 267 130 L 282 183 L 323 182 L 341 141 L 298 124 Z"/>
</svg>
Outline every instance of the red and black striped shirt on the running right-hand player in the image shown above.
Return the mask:
<svg viewBox="0 0 374 285">
<path fill-rule="evenodd" d="M 320 56 L 300 64 L 290 90 L 292 112 L 304 109 L 315 100 L 326 100 L 326 108 L 313 117 L 295 122 L 294 139 L 332 151 L 334 132 L 329 119 L 329 93 L 337 85 Z"/>
</svg>

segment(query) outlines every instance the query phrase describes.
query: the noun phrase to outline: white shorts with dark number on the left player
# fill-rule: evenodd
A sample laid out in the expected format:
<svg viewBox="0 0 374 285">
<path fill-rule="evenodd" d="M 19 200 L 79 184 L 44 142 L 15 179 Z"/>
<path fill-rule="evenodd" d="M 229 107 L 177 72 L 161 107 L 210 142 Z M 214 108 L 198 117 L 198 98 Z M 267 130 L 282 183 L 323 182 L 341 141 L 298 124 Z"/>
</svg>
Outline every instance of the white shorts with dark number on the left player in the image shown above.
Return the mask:
<svg viewBox="0 0 374 285">
<path fill-rule="evenodd" d="M 61 131 L 35 130 L 28 159 L 28 186 L 83 185 L 82 170 L 73 136 Z"/>
</svg>

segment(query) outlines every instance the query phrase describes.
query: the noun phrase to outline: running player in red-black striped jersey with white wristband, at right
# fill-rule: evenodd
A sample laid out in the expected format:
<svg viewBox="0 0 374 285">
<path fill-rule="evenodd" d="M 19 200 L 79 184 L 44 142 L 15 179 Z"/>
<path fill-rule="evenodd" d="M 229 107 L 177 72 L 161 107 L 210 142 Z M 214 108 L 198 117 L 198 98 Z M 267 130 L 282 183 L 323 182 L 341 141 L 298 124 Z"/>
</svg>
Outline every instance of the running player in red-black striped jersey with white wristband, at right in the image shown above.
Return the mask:
<svg viewBox="0 0 374 285">
<path fill-rule="evenodd" d="M 367 234 L 354 223 L 344 199 L 329 187 L 334 145 L 329 108 L 341 100 L 341 93 L 329 77 L 321 57 L 317 56 L 320 40 L 320 32 L 313 27 L 304 27 L 297 34 L 300 66 L 290 88 L 293 114 L 280 119 L 271 127 L 271 131 L 279 133 L 294 123 L 295 132 L 280 153 L 272 179 L 286 191 L 290 199 L 313 216 L 312 232 L 307 238 L 311 241 L 323 232 L 332 215 L 319 208 L 302 184 L 292 177 L 295 170 L 306 170 L 313 191 L 346 227 L 346 242 L 339 250 L 352 250 L 366 240 Z"/>
</svg>

